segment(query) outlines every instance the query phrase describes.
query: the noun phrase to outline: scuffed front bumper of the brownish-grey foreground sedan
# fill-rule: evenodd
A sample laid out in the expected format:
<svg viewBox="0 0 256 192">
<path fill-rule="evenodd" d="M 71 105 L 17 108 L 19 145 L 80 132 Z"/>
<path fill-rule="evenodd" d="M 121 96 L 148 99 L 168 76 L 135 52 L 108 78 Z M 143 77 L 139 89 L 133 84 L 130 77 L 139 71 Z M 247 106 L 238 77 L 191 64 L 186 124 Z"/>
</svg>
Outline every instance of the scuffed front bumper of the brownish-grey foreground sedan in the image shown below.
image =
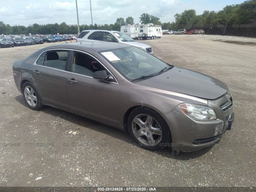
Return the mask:
<svg viewBox="0 0 256 192">
<path fill-rule="evenodd" d="M 224 132 L 231 129 L 234 122 L 233 108 L 231 106 L 224 112 L 219 110 L 216 112 L 217 119 L 208 121 L 189 118 L 178 107 L 164 114 L 172 135 L 172 150 L 191 152 L 218 142 Z"/>
</svg>

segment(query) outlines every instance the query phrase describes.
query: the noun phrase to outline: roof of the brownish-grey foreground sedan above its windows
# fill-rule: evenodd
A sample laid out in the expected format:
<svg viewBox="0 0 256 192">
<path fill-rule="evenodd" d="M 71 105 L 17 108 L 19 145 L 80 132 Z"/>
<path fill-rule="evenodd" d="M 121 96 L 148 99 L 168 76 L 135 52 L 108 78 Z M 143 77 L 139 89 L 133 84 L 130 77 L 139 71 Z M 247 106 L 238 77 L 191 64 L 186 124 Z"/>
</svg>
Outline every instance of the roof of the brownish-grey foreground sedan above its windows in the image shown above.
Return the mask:
<svg viewBox="0 0 256 192">
<path fill-rule="evenodd" d="M 66 43 L 66 44 L 58 44 L 53 46 L 48 46 L 44 50 L 48 49 L 77 49 L 77 50 L 85 50 L 84 48 L 89 48 L 96 52 L 104 51 L 104 50 L 111 50 L 116 48 L 124 48 L 124 47 L 133 47 L 128 44 L 122 43 L 112 43 L 112 42 L 103 42 L 103 41 L 83 41 L 83 42 L 76 42 L 76 43 Z"/>
</svg>

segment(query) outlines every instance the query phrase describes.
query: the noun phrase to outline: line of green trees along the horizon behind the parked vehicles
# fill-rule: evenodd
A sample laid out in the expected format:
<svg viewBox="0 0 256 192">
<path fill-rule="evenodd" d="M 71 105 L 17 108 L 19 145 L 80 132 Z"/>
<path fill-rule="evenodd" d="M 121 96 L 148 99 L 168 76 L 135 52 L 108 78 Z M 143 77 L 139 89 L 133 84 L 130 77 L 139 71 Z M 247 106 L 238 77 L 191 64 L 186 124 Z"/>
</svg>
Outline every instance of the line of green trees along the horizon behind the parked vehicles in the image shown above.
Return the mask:
<svg viewBox="0 0 256 192">
<path fill-rule="evenodd" d="M 222 10 L 208 11 L 197 15 L 194 9 L 174 15 L 174 22 L 160 22 L 160 18 L 143 13 L 140 22 L 143 24 L 153 23 L 161 25 L 163 30 L 178 29 L 204 29 L 206 34 L 227 34 L 240 36 L 256 36 L 256 0 L 246 0 L 241 4 L 227 5 Z M 80 31 L 87 29 L 107 29 L 120 31 L 120 26 L 134 24 L 132 16 L 117 18 L 114 24 L 80 25 Z M 0 34 L 76 34 L 77 25 L 61 24 L 31 24 L 29 26 L 10 26 L 0 21 Z"/>
</svg>

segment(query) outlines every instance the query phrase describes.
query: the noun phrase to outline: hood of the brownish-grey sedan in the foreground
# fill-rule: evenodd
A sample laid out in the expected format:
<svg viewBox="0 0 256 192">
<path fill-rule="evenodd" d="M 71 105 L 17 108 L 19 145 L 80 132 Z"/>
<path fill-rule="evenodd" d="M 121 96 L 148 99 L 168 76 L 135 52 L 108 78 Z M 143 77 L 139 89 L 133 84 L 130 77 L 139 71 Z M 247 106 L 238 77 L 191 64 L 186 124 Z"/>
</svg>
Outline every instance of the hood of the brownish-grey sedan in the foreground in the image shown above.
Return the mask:
<svg viewBox="0 0 256 192">
<path fill-rule="evenodd" d="M 178 67 L 137 84 L 209 100 L 214 100 L 228 91 L 227 85 L 220 80 Z"/>
</svg>

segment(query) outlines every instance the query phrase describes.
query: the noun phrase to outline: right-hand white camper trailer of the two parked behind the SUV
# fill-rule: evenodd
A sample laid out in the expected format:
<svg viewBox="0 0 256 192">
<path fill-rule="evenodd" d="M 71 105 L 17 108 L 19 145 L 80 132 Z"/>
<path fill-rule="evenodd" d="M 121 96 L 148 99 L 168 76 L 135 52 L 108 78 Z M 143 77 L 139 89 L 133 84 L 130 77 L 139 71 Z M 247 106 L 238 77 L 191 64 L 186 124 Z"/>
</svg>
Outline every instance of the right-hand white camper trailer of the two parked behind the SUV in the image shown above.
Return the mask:
<svg viewBox="0 0 256 192">
<path fill-rule="evenodd" d="M 142 39 L 155 39 L 155 38 L 161 38 L 163 36 L 162 34 L 162 26 L 160 25 L 154 25 L 152 23 L 149 24 L 141 24 L 139 28 L 138 38 Z"/>
</svg>

